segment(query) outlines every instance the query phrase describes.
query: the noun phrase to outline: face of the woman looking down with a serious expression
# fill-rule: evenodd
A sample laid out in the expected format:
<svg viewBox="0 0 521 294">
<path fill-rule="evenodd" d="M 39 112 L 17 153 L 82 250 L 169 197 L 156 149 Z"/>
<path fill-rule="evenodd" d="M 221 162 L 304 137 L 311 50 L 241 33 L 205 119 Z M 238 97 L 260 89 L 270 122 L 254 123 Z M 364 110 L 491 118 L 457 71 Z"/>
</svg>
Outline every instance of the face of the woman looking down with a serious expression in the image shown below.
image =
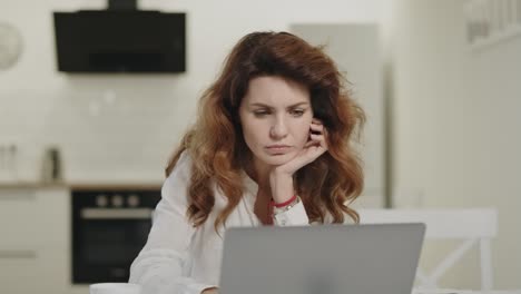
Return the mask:
<svg viewBox="0 0 521 294">
<path fill-rule="evenodd" d="M 255 166 L 283 165 L 308 140 L 313 119 L 309 90 L 276 76 L 254 78 L 240 102 L 239 117 Z"/>
</svg>

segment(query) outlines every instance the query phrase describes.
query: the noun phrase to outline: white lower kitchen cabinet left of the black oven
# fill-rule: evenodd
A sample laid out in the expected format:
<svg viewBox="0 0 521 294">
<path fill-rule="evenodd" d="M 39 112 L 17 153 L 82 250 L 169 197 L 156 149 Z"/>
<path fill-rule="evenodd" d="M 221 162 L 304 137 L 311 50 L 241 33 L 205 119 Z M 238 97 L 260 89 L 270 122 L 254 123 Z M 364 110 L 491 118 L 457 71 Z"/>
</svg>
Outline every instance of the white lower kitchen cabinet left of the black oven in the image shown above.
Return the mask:
<svg viewBox="0 0 521 294">
<path fill-rule="evenodd" d="M 65 294 L 69 189 L 0 187 L 0 293 Z"/>
</svg>

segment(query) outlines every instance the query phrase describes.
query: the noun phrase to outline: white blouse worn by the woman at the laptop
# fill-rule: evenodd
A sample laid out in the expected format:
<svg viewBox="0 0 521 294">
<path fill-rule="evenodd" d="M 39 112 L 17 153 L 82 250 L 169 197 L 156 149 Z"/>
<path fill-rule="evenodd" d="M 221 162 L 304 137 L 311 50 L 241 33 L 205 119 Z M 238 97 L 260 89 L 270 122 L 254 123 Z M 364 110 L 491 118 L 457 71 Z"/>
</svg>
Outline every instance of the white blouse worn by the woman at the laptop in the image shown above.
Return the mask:
<svg viewBox="0 0 521 294">
<path fill-rule="evenodd" d="M 130 267 L 129 283 L 140 284 L 142 293 L 199 294 L 204 288 L 218 286 L 225 228 L 217 234 L 214 222 L 226 206 L 226 197 L 214 185 L 214 209 L 195 228 L 186 217 L 190 170 L 191 159 L 185 151 L 163 185 L 147 244 Z M 226 219 L 226 227 L 262 225 L 254 214 L 258 186 L 244 171 L 243 184 L 243 198 Z M 274 225 L 308 225 L 308 222 L 301 202 L 277 214 Z"/>
</svg>

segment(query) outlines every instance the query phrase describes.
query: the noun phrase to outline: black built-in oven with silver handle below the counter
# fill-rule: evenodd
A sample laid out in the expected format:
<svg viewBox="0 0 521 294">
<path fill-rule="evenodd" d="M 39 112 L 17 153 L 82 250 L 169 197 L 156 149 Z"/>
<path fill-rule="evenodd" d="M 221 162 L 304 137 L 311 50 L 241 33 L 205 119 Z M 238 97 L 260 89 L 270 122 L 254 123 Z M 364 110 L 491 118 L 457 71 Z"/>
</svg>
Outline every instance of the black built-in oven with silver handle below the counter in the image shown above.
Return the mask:
<svg viewBox="0 0 521 294">
<path fill-rule="evenodd" d="M 127 282 L 160 187 L 73 188 L 72 284 Z"/>
</svg>

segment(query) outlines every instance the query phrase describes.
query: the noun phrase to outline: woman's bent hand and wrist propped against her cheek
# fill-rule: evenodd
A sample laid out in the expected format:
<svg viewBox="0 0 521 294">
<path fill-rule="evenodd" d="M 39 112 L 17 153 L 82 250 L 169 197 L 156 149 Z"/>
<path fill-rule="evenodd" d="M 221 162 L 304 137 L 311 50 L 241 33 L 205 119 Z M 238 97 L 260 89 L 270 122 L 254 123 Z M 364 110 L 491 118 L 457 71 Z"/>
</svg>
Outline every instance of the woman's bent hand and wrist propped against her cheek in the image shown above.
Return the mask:
<svg viewBox="0 0 521 294">
<path fill-rule="evenodd" d="M 309 139 L 304 148 L 288 163 L 277 166 L 269 174 L 273 199 L 284 203 L 293 194 L 293 174 L 303 166 L 313 163 L 316 158 L 327 151 L 326 129 L 321 120 L 313 118 L 309 126 Z"/>
</svg>

